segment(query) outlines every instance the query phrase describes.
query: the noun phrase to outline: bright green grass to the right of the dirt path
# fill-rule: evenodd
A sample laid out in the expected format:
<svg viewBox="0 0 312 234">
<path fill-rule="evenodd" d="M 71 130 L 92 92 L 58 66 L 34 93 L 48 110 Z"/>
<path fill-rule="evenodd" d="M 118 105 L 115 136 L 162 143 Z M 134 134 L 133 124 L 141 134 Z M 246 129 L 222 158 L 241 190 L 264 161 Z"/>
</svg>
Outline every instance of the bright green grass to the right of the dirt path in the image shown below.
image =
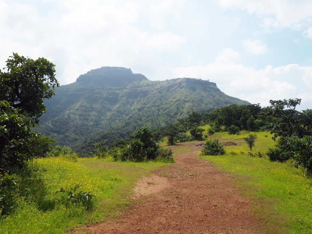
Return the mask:
<svg viewBox="0 0 312 234">
<path fill-rule="evenodd" d="M 225 146 L 227 154 L 222 156 L 199 156 L 236 176 L 241 193 L 254 201 L 252 211 L 268 233 L 312 233 L 312 180 L 288 163 L 248 156 L 248 146 L 241 139 L 247 134 L 213 134 L 221 142 L 238 145 Z M 256 134 L 253 151 L 265 152 L 274 146 L 270 134 Z"/>
</svg>

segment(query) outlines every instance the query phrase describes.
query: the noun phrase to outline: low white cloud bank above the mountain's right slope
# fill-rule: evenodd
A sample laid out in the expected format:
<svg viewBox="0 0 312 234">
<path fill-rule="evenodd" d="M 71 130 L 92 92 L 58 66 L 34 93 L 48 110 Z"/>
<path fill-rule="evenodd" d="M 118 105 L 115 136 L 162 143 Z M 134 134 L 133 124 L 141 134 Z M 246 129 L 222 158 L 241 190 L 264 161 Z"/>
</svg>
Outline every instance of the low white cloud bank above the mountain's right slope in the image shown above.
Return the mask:
<svg viewBox="0 0 312 234">
<path fill-rule="evenodd" d="M 176 77 L 209 79 L 227 95 L 251 103 L 269 105 L 269 100 L 302 98 L 300 108 L 312 108 L 312 67 L 297 64 L 287 66 L 266 66 L 257 70 L 235 63 L 214 63 L 206 66 L 178 67 L 173 71 Z"/>
</svg>

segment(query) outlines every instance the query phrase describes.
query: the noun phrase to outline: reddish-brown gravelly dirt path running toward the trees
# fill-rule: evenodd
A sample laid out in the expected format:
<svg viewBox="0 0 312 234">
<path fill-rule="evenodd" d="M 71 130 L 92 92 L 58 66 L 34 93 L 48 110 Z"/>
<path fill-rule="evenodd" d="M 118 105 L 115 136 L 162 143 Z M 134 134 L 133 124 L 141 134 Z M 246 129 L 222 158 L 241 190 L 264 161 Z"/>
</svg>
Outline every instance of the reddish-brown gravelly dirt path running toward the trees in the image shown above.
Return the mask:
<svg viewBox="0 0 312 234">
<path fill-rule="evenodd" d="M 259 233 L 231 176 L 197 157 L 202 146 L 174 147 L 186 145 L 193 152 L 138 183 L 137 202 L 121 218 L 73 233 Z"/>
</svg>

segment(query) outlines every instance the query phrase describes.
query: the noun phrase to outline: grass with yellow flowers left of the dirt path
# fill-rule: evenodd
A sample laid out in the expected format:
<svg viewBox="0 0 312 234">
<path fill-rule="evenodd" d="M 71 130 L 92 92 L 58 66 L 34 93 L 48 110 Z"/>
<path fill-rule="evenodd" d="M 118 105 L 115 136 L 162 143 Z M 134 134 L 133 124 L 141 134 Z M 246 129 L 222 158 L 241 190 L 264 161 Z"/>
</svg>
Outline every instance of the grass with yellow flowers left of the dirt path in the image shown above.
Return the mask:
<svg viewBox="0 0 312 234">
<path fill-rule="evenodd" d="M 118 216 L 130 203 L 135 182 L 165 163 L 113 162 L 107 159 L 35 159 L 37 168 L 18 185 L 20 197 L 15 212 L 0 221 L 0 233 L 64 233 L 86 222 Z M 66 207 L 60 202 L 61 187 L 82 183 L 82 191 L 92 191 L 96 203 L 86 212 L 81 205 Z"/>
</svg>

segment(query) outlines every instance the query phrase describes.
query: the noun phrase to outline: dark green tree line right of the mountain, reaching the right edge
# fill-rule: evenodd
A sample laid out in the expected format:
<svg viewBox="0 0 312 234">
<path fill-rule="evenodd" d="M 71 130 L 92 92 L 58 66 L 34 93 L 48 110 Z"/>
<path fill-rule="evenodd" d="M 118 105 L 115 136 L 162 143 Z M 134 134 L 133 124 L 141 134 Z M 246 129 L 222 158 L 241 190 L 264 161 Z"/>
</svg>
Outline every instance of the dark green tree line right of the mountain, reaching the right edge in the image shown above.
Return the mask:
<svg viewBox="0 0 312 234">
<path fill-rule="evenodd" d="M 312 173 L 312 110 L 298 111 L 301 99 L 270 100 L 270 106 L 229 105 L 209 113 L 193 111 L 187 118 L 179 119 L 161 129 L 168 137 L 168 144 L 175 144 L 179 135 L 187 131 L 195 138 L 201 137 L 199 126 L 209 124 L 209 133 L 228 131 L 239 134 L 240 130 L 267 130 L 273 134 L 276 146 L 266 153 L 271 161 L 292 160 L 295 167 L 303 167 Z M 256 136 L 246 138 L 250 148 Z M 211 143 L 209 143 L 211 144 Z M 217 145 L 216 142 L 214 142 Z"/>
</svg>

